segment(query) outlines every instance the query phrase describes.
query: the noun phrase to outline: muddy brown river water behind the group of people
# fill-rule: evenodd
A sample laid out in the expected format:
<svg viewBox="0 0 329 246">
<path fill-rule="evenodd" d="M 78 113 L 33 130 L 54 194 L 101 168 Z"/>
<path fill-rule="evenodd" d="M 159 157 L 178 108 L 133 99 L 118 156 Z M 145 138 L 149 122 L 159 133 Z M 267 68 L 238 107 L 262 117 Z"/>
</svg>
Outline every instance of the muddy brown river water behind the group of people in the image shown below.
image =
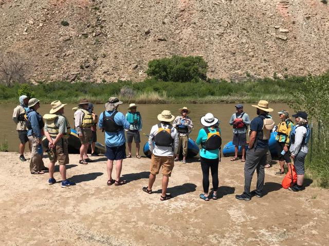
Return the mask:
<svg viewBox="0 0 329 246">
<path fill-rule="evenodd" d="M 137 110 L 140 112 L 143 120 L 143 129 L 141 133 L 149 134 L 151 127 L 158 123 L 157 115 L 161 113 L 162 110 L 170 110 L 171 113 L 175 116 L 179 114 L 178 109 L 182 107 L 188 107 L 191 110 L 189 116 L 191 117 L 194 130 L 191 132 L 190 137 L 196 140 L 198 131 L 202 128 L 200 124 L 200 117 L 204 116 L 206 113 L 212 113 L 215 117 L 220 119 L 220 127 L 222 129 L 222 138 L 223 145 L 226 142 L 232 140 L 232 126 L 228 124 L 231 115 L 235 112 L 236 104 L 153 104 L 153 105 L 140 105 Z M 50 105 L 40 105 L 40 109 L 38 112 L 42 115 L 45 113 L 49 113 Z M 69 122 L 74 125 L 73 116 L 74 111 L 72 111 L 73 107 L 77 105 L 68 104 L 65 106 L 65 116 L 69 119 Z M 119 106 L 119 111 L 124 114 L 127 112 L 127 107 L 129 105 L 123 104 Z M 12 113 L 16 105 L 14 104 L 1 104 L 1 128 L 0 128 L 0 143 L 3 143 L 5 139 L 8 140 L 9 151 L 18 151 L 19 138 L 16 133 L 16 125 L 12 120 Z M 277 112 L 282 109 L 289 110 L 287 104 L 270 104 L 270 108 L 273 108 L 272 112 L 273 119 L 278 122 L 279 116 Z M 94 105 L 95 113 L 100 114 L 104 111 L 104 105 Z M 244 104 L 244 111 L 249 115 L 252 119 L 256 116 L 256 108 L 252 107 L 251 104 Z M 292 113 L 291 110 L 289 110 Z M 147 136 L 141 135 L 141 145 L 143 146 L 145 142 L 148 140 Z M 104 134 L 101 131 L 97 131 L 97 141 L 100 144 L 104 145 Z M 25 150 L 28 150 L 26 148 Z M 133 152 L 134 153 L 134 152 Z M 142 154 L 142 152 L 141 152 Z"/>
</svg>

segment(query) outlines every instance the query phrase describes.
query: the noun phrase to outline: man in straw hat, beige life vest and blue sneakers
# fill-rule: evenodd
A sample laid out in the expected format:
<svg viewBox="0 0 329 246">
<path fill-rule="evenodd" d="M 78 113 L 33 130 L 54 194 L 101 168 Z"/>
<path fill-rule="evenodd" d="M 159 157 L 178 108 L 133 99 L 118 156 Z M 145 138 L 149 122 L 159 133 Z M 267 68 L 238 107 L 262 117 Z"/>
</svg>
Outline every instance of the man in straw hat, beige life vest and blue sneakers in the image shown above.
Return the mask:
<svg viewBox="0 0 329 246">
<path fill-rule="evenodd" d="M 68 142 L 67 139 L 71 132 L 70 125 L 67 118 L 64 116 L 64 106 L 61 101 L 56 100 L 51 103 L 50 114 L 45 114 L 46 119 L 45 136 L 49 141 L 49 149 L 53 151 L 54 156 L 49 156 L 49 180 L 48 184 L 53 185 L 56 179 L 53 177 L 55 163 L 58 160 L 60 165 L 60 174 L 62 177 L 61 187 L 74 186 L 75 183 L 66 179 L 66 164 L 69 162 L 68 158 Z"/>
</svg>

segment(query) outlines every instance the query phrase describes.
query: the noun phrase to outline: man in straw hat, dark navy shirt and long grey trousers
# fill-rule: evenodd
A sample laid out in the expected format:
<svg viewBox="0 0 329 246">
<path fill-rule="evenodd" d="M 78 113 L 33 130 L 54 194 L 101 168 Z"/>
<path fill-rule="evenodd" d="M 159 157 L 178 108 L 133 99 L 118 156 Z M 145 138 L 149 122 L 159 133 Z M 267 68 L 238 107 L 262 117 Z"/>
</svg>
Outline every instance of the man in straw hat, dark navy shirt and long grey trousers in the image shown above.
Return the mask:
<svg viewBox="0 0 329 246">
<path fill-rule="evenodd" d="M 268 139 L 275 125 L 274 120 L 268 116 L 268 112 L 273 111 L 268 107 L 268 101 L 260 100 L 258 105 L 252 105 L 252 107 L 257 108 L 258 116 L 250 122 L 249 149 L 246 151 L 245 162 L 244 193 L 235 196 L 239 200 L 250 200 L 251 196 L 263 196 Z M 256 190 L 250 192 L 251 179 L 255 170 L 257 170 L 257 187 Z"/>
</svg>

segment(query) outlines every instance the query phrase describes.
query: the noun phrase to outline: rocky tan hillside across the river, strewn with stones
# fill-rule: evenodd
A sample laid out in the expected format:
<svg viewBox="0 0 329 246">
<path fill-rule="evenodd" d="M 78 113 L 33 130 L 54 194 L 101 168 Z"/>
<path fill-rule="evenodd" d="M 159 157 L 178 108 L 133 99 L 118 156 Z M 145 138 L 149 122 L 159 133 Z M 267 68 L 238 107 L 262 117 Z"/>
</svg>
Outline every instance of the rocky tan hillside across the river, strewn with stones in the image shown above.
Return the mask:
<svg viewBox="0 0 329 246">
<path fill-rule="evenodd" d="M 320 0 L 0 0 L 0 27 L 0 52 L 24 56 L 35 80 L 140 81 L 172 54 L 203 56 L 213 78 L 329 67 Z"/>
</svg>

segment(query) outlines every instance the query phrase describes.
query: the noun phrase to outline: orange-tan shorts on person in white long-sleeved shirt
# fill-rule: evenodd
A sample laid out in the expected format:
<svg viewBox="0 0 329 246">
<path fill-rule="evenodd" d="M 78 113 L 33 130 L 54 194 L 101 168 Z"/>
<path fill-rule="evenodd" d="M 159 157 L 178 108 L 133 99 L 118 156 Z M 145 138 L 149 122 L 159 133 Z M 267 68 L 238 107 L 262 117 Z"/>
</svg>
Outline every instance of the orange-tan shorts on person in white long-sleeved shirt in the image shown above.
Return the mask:
<svg viewBox="0 0 329 246">
<path fill-rule="evenodd" d="M 173 156 L 158 156 L 152 154 L 150 172 L 153 175 L 157 175 L 162 166 L 162 175 L 170 177 L 171 171 L 174 168 L 174 157 Z"/>
</svg>

